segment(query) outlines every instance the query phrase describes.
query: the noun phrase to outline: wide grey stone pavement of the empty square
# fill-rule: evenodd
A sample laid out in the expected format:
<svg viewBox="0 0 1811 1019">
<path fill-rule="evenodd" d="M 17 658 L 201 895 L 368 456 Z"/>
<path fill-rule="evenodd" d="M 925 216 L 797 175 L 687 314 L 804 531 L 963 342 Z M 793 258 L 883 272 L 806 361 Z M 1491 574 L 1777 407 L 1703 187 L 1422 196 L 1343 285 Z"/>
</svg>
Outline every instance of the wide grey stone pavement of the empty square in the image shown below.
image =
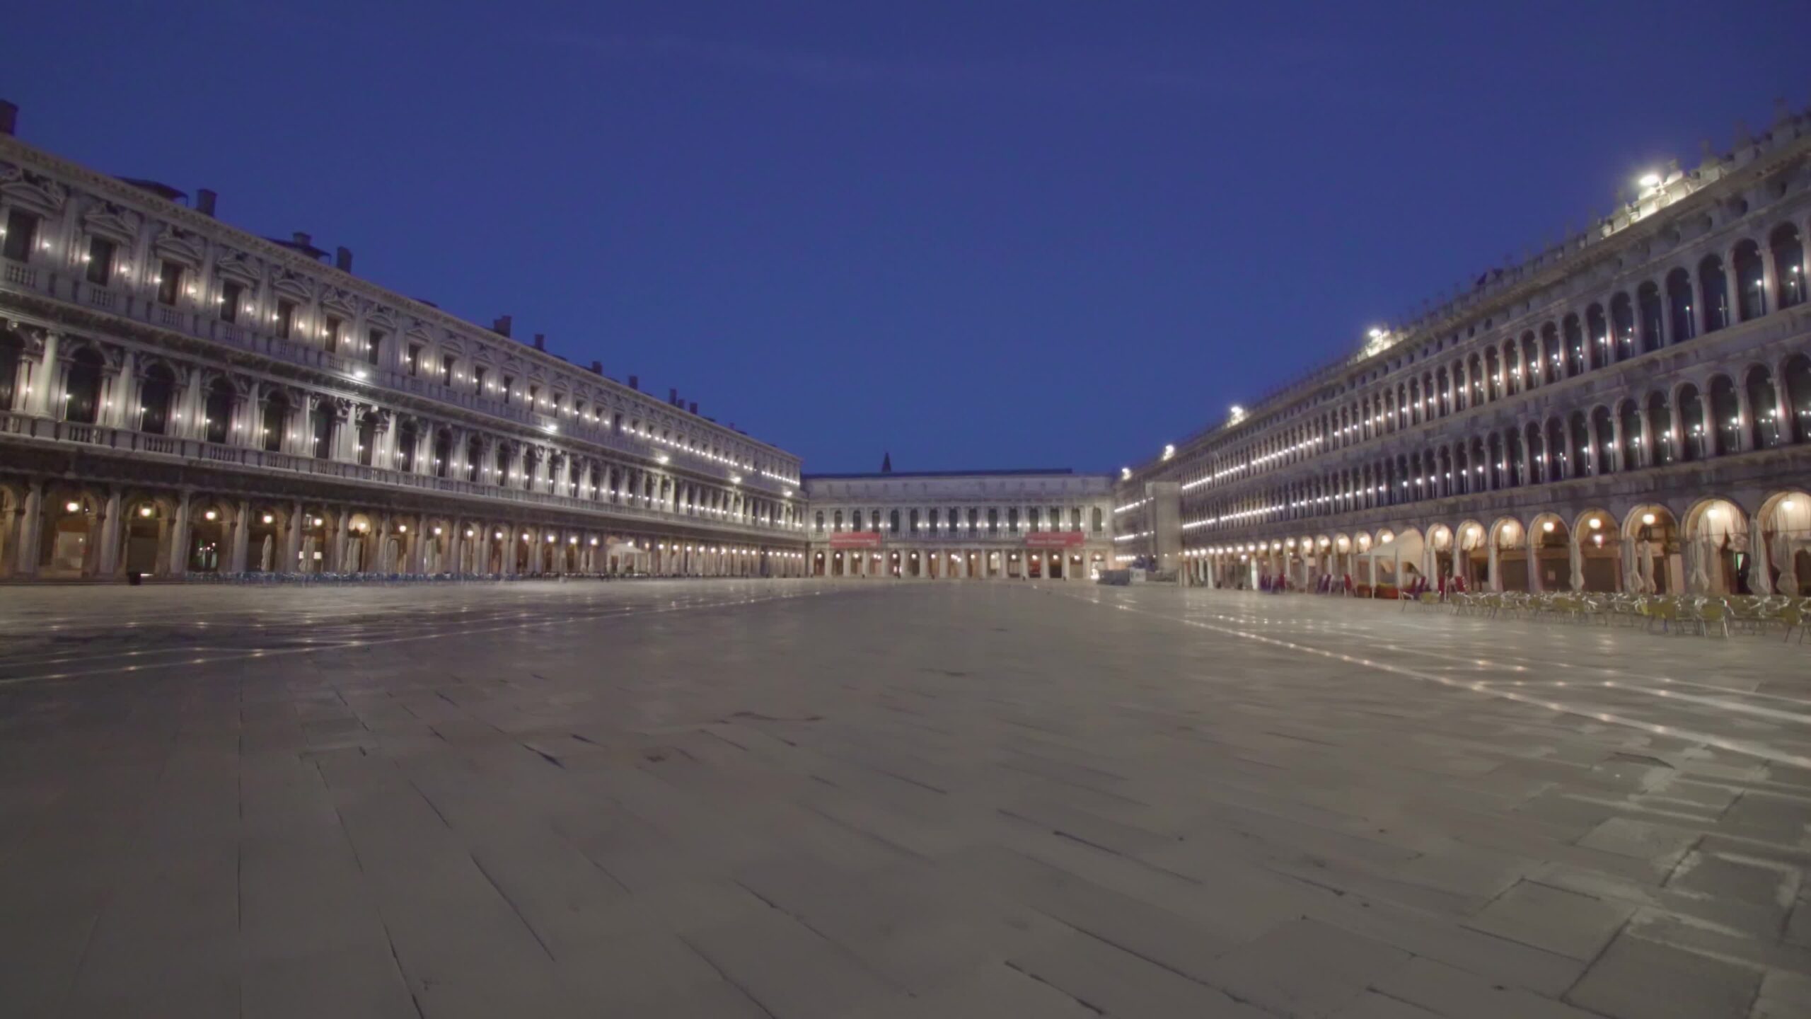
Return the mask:
<svg viewBox="0 0 1811 1019">
<path fill-rule="evenodd" d="M 0 589 L 0 1014 L 1811 1015 L 1811 647 L 1172 587 Z"/>
</svg>

